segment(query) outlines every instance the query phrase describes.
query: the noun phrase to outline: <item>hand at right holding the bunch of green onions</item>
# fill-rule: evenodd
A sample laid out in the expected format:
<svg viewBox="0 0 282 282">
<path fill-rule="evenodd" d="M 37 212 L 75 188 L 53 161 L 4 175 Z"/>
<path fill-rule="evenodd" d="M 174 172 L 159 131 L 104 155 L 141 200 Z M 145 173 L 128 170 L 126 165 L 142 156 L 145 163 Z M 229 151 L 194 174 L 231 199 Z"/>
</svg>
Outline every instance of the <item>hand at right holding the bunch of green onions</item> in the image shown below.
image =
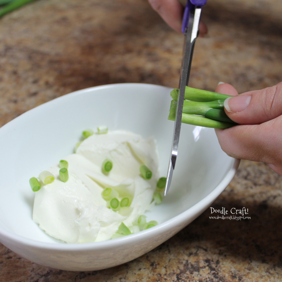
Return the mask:
<svg viewBox="0 0 282 282">
<path fill-rule="evenodd" d="M 237 96 L 230 84 L 216 92 Z M 236 159 L 264 162 L 282 176 L 282 82 L 227 98 L 224 109 L 239 125 L 216 129 L 221 148 Z"/>
</svg>

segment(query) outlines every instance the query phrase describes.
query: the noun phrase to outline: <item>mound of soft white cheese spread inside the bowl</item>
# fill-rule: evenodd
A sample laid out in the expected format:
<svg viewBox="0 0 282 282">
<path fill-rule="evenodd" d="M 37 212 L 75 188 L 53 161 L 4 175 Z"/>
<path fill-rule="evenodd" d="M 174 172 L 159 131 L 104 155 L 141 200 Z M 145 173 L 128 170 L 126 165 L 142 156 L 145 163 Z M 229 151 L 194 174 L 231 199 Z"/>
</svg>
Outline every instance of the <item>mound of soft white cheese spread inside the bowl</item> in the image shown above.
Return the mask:
<svg viewBox="0 0 282 282">
<path fill-rule="evenodd" d="M 122 130 L 93 134 L 85 139 L 76 154 L 64 158 L 69 179 L 59 179 L 59 164 L 48 171 L 55 180 L 35 193 L 33 220 L 50 236 L 67 243 L 108 240 L 123 222 L 131 226 L 151 206 L 159 179 L 154 138 Z M 112 161 L 108 175 L 102 173 L 105 159 Z M 140 176 L 140 165 L 152 171 L 152 178 Z M 113 211 L 102 198 L 105 188 L 118 191 L 118 200 L 130 195 L 129 214 Z"/>
</svg>

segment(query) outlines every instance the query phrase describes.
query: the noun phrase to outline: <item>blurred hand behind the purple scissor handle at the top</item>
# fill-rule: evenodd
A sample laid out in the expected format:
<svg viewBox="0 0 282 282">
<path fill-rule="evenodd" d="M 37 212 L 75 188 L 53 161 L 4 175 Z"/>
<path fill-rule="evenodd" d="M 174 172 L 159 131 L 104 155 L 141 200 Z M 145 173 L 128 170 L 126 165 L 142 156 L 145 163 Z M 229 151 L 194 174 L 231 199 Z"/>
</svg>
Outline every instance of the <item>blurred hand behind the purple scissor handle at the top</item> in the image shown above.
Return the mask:
<svg viewBox="0 0 282 282">
<path fill-rule="evenodd" d="M 174 30 L 181 32 L 184 7 L 178 0 L 148 0 L 152 8 L 159 13 L 163 20 Z M 201 21 L 199 36 L 207 34 L 207 27 Z"/>
</svg>

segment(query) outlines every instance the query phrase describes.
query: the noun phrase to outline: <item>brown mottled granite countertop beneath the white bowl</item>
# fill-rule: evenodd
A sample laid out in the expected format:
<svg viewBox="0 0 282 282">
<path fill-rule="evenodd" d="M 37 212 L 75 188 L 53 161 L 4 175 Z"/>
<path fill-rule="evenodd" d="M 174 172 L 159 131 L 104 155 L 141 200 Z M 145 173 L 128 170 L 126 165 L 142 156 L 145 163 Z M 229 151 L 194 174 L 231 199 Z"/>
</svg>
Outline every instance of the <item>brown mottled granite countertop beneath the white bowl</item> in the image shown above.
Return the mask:
<svg viewBox="0 0 282 282">
<path fill-rule="evenodd" d="M 196 42 L 191 86 L 219 81 L 239 92 L 282 81 L 282 3 L 211 0 Z M 183 37 L 147 0 L 38 0 L 0 19 L 0 125 L 74 90 L 119 82 L 178 85 Z M 151 252 L 100 271 L 50 269 L 0 247 L 0 280 L 280 281 L 282 178 L 241 161 L 211 207 L 248 209 L 249 220 L 210 219 L 206 210 Z"/>
</svg>

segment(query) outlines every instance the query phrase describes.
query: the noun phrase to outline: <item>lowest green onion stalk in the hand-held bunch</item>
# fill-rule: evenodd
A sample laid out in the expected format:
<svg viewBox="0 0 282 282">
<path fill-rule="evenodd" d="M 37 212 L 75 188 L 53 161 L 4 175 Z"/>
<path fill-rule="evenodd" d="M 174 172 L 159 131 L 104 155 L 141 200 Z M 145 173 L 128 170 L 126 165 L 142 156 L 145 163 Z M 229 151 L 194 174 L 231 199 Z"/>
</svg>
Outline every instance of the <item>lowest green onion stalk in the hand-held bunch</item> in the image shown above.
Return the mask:
<svg viewBox="0 0 282 282">
<path fill-rule="evenodd" d="M 168 119 L 175 121 L 175 113 L 170 112 Z M 210 118 L 205 118 L 205 117 L 196 116 L 196 115 L 189 115 L 189 114 L 184 114 L 184 113 L 182 114 L 181 122 L 192 124 L 192 125 L 197 125 L 197 126 L 220 128 L 220 129 L 230 128 L 235 125 L 234 123 L 226 123 L 226 122 L 213 120 Z"/>
</svg>

